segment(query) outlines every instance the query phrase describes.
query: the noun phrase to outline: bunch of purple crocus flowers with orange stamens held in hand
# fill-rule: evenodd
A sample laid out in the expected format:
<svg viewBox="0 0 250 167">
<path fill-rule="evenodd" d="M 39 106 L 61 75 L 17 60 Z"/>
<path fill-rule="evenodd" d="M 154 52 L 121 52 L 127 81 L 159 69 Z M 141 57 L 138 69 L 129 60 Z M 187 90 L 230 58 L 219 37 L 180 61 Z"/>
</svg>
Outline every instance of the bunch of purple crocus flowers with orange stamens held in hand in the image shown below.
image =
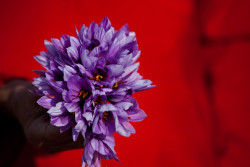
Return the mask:
<svg viewBox="0 0 250 167">
<path fill-rule="evenodd" d="M 98 167 L 101 158 L 118 160 L 113 133 L 128 137 L 135 133 L 129 122 L 146 117 L 132 94 L 154 86 L 137 72 L 140 51 L 127 25 L 116 31 L 105 17 L 76 35 L 45 41 L 35 59 L 46 70 L 35 71 L 33 84 L 51 124 L 72 128 L 74 141 L 83 136 L 82 166 Z"/>
</svg>

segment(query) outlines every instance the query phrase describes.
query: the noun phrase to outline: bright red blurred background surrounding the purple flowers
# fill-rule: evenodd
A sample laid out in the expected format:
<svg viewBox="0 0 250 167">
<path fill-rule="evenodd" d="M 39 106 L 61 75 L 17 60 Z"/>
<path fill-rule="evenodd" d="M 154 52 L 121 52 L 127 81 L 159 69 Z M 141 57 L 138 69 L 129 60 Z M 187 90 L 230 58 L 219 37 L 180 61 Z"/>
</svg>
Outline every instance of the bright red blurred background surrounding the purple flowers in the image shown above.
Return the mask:
<svg viewBox="0 0 250 167">
<path fill-rule="evenodd" d="M 249 0 L 9 0 L 0 5 L 0 70 L 35 77 L 44 39 L 108 16 L 135 31 L 139 72 L 156 88 L 135 95 L 148 117 L 115 135 L 103 167 L 250 166 Z M 38 167 L 76 166 L 82 150 L 38 156 Z M 22 160 L 20 160 L 20 163 Z"/>
</svg>

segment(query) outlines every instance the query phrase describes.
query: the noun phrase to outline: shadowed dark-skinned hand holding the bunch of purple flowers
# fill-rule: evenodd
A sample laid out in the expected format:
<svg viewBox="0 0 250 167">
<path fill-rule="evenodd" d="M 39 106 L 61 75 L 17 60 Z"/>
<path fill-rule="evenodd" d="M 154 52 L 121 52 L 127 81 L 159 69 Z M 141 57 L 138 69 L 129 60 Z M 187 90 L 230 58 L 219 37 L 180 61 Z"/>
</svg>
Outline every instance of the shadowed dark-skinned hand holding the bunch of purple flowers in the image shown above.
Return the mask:
<svg viewBox="0 0 250 167">
<path fill-rule="evenodd" d="M 26 140 L 49 153 L 83 148 L 80 135 L 74 142 L 71 129 L 60 133 L 58 127 L 50 124 L 47 109 L 39 106 L 39 97 L 28 91 L 32 89 L 35 87 L 25 80 L 12 80 L 0 88 L 0 105 L 7 111 L 5 114 L 19 121 Z"/>
</svg>

